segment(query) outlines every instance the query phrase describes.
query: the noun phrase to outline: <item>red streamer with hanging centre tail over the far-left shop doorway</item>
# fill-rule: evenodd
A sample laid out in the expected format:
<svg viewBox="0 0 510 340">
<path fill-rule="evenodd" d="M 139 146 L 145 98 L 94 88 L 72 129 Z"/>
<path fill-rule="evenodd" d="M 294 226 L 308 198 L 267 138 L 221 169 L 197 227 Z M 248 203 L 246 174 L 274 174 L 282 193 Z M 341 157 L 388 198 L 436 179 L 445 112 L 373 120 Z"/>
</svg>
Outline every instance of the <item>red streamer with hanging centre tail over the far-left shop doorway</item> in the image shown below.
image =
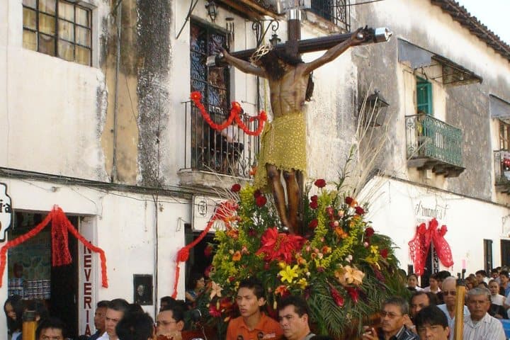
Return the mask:
<svg viewBox="0 0 510 340">
<path fill-rule="evenodd" d="M 7 263 L 6 254 L 8 249 L 18 246 L 28 239 L 31 239 L 37 235 L 42 229 L 44 229 L 48 223 L 52 222 L 52 266 L 64 266 L 72 262 L 71 254 L 69 253 L 69 247 L 67 246 L 68 234 L 71 232 L 74 237 L 79 239 L 81 243 L 86 246 L 87 249 L 94 251 L 99 254 L 101 259 L 101 283 L 104 288 L 108 288 L 108 278 L 106 276 L 106 255 L 103 249 L 94 246 L 87 241 L 81 234 L 74 228 L 74 225 L 67 219 L 64 211 L 55 205 L 50 213 L 40 222 L 35 228 L 27 232 L 26 234 L 16 237 L 12 241 L 7 242 L 0 249 L 0 278 L 4 276 L 4 270 Z M 2 280 L 0 279 L 0 287 L 2 286 Z"/>
</svg>

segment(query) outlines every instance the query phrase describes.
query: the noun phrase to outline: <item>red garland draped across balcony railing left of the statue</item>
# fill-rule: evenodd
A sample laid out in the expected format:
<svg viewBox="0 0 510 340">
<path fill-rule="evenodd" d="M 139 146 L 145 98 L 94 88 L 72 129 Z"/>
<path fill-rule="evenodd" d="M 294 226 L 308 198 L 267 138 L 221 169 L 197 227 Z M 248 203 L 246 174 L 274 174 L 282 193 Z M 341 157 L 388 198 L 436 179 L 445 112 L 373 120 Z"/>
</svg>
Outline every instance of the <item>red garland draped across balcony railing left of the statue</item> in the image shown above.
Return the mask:
<svg viewBox="0 0 510 340">
<path fill-rule="evenodd" d="M 237 125 L 239 125 L 239 128 L 241 128 L 244 131 L 244 133 L 246 133 L 246 135 L 258 136 L 262 133 L 264 122 L 266 122 L 266 120 L 267 120 L 267 114 L 265 111 L 261 111 L 261 113 L 259 115 L 257 115 L 256 117 L 250 117 L 249 118 L 250 122 L 255 119 L 259 120 L 259 127 L 255 131 L 249 130 L 249 128 L 246 125 L 244 125 L 244 122 L 242 121 L 242 119 L 239 118 L 239 113 L 242 112 L 241 105 L 239 105 L 239 103 L 237 103 L 237 101 L 233 101 L 232 109 L 230 109 L 230 115 L 227 118 L 227 120 L 225 120 L 225 122 L 223 122 L 222 124 L 216 124 L 210 118 L 209 113 L 207 113 L 205 111 L 205 106 L 203 106 L 203 103 L 201 102 L 202 94 L 200 94 L 199 91 L 193 91 L 193 92 L 191 92 L 190 98 L 193 101 L 193 103 L 195 103 L 195 106 L 198 108 L 198 110 L 200 110 L 200 113 L 202 113 L 203 118 L 209 124 L 209 126 L 217 131 L 221 131 L 221 130 L 227 128 L 227 126 L 231 125 L 232 121 L 235 119 L 237 122 Z"/>
</svg>

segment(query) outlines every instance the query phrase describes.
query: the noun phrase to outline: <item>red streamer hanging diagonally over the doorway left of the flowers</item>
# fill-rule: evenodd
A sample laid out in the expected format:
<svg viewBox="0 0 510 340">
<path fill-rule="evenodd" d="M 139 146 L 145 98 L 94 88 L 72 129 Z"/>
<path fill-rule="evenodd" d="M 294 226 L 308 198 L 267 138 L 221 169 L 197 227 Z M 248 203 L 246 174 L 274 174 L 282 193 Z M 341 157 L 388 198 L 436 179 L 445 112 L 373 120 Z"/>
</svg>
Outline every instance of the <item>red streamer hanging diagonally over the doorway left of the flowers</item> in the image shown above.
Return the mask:
<svg viewBox="0 0 510 340">
<path fill-rule="evenodd" d="M 208 222 L 208 225 L 203 229 L 203 232 L 198 235 L 198 237 L 191 242 L 190 244 L 187 244 L 186 246 L 183 246 L 179 251 L 177 251 L 176 256 L 176 273 L 175 273 L 175 280 L 174 280 L 174 293 L 172 293 L 171 297 L 174 299 L 177 297 L 177 285 L 179 283 L 179 276 L 181 273 L 181 268 L 179 267 L 179 264 L 181 262 L 188 261 L 189 258 L 189 251 L 193 246 L 196 246 L 198 242 L 202 241 L 202 239 L 207 235 L 210 228 L 214 224 L 216 220 L 222 220 L 225 222 L 226 225 L 229 225 L 229 217 L 234 215 L 234 211 L 237 210 L 238 205 L 233 200 L 227 200 L 220 205 L 216 207 L 214 215 L 212 215 L 210 221 Z"/>
</svg>

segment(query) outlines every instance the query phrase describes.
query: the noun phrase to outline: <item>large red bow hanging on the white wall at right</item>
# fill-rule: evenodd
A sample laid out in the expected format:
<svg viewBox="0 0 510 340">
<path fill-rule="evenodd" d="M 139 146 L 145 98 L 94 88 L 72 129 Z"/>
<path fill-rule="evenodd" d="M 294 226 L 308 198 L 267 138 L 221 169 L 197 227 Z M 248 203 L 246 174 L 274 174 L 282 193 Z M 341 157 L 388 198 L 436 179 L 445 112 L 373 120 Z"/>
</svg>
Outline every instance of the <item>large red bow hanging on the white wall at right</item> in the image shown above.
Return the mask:
<svg viewBox="0 0 510 340">
<path fill-rule="evenodd" d="M 425 223 L 416 227 L 416 234 L 414 238 L 409 241 L 409 254 L 414 263 L 414 273 L 421 276 L 424 273 L 426 256 L 429 254 L 431 242 L 433 242 L 434 249 L 438 254 L 438 258 L 443 263 L 443 266 L 453 266 L 453 258 L 451 254 L 450 245 L 444 238 L 448 232 L 446 225 L 438 228 L 438 221 L 433 218 L 429 222 L 427 229 Z"/>
</svg>

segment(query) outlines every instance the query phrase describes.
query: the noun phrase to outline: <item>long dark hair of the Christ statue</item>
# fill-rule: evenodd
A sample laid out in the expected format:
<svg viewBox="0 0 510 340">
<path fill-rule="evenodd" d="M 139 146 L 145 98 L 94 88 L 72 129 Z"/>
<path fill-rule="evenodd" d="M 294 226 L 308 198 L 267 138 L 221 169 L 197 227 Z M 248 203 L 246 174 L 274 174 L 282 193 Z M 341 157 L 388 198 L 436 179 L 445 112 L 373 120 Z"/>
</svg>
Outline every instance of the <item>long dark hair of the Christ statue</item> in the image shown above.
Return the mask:
<svg viewBox="0 0 510 340">
<path fill-rule="evenodd" d="M 282 64 L 278 62 L 278 60 L 282 60 L 285 64 L 289 64 L 290 66 L 296 66 L 297 64 L 304 63 L 302 59 L 299 57 L 294 57 L 293 55 L 288 55 L 285 52 L 280 52 L 278 50 L 271 50 L 268 54 L 263 55 L 260 59 L 261 67 L 266 71 L 268 77 L 273 80 L 278 80 L 283 77 L 285 74 L 285 68 Z M 305 100 L 311 101 L 314 90 L 314 82 L 313 82 L 313 73 L 308 77 L 308 84 L 305 94 Z"/>
</svg>

